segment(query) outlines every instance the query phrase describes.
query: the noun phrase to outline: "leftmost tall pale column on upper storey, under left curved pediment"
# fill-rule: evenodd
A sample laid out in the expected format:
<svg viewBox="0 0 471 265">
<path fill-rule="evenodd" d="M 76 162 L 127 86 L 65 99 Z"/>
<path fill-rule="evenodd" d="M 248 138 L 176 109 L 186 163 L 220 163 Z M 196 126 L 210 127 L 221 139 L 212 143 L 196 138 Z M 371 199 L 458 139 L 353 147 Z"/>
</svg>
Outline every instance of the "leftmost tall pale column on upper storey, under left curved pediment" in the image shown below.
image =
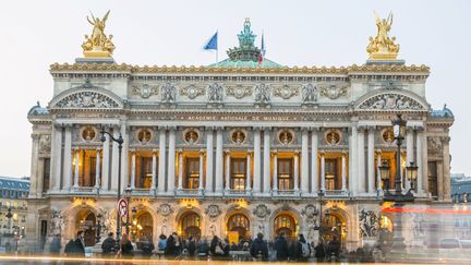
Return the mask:
<svg viewBox="0 0 471 265">
<path fill-rule="evenodd" d="M 51 184 L 52 191 L 59 191 L 61 181 L 61 168 L 62 168 L 62 127 L 58 124 L 52 125 L 52 141 L 51 145 L 53 148 L 51 155 Z"/>
</svg>

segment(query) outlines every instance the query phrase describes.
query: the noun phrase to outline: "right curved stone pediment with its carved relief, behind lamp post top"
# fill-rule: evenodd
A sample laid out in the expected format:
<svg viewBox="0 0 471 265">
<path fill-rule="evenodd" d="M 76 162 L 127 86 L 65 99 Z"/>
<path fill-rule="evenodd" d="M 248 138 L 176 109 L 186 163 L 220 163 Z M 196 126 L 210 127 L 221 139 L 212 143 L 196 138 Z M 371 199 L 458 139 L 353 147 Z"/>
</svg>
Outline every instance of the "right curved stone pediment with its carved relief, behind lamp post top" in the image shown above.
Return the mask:
<svg viewBox="0 0 471 265">
<path fill-rule="evenodd" d="M 424 111 L 430 105 L 418 94 L 404 89 L 375 89 L 361 96 L 354 103 L 357 111 Z"/>
</svg>

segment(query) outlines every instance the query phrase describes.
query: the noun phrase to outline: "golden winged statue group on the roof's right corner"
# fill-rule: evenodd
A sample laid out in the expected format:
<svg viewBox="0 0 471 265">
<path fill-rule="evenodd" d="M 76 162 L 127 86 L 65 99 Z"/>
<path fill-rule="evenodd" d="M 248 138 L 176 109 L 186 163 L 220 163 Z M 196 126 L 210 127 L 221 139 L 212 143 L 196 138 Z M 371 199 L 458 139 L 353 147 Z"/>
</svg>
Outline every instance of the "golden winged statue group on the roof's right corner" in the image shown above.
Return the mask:
<svg viewBox="0 0 471 265">
<path fill-rule="evenodd" d="M 399 45 L 395 44 L 396 37 L 389 37 L 389 31 L 392 25 L 392 13 L 389 13 L 387 20 L 376 17 L 377 34 L 376 37 L 370 37 L 370 45 L 366 51 L 370 53 L 370 59 L 373 60 L 395 60 L 399 52 Z"/>
</svg>

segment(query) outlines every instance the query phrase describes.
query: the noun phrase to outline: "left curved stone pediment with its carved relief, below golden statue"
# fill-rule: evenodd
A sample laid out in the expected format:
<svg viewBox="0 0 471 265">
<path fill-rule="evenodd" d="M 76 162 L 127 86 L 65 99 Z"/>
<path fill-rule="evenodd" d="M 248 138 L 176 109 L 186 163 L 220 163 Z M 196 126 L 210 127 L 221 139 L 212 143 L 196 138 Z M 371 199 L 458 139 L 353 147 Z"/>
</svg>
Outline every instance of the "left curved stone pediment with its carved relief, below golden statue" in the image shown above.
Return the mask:
<svg viewBox="0 0 471 265">
<path fill-rule="evenodd" d="M 123 107 L 124 103 L 118 95 L 100 87 L 67 89 L 49 103 L 51 109 L 121 109 Z"/>
</svg>

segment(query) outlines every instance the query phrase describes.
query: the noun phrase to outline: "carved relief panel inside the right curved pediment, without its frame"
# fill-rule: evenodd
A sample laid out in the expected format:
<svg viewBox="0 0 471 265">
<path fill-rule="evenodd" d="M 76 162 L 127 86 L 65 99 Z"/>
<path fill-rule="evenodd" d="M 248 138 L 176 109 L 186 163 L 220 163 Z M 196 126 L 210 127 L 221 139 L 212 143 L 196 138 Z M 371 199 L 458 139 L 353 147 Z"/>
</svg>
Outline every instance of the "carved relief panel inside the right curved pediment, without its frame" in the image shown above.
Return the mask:
<svg viewBox="0 0 471 265">
<path fill-rule="evenodd" d="M 424 107 L 414 99 L 399 94 L 382 94 L 362 103 L 359 109 L 410 109 L 423 110 Z"/>
</svg>

